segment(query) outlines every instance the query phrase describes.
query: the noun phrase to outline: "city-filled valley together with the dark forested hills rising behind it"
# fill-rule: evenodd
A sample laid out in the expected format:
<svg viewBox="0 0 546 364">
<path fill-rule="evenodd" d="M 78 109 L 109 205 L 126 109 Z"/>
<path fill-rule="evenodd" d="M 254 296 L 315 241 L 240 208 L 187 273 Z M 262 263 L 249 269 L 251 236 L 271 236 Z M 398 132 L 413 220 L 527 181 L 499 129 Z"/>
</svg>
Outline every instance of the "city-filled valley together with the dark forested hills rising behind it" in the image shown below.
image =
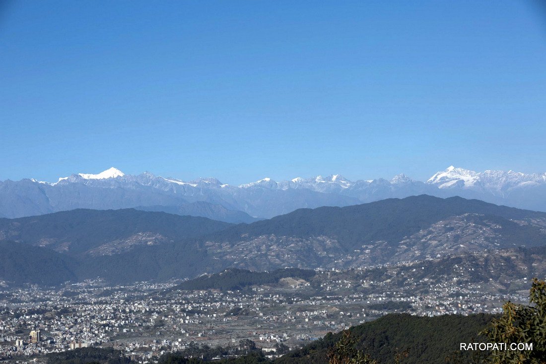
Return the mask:
<svg viewBox="0 0 546 364">
<path fill-rule="evenodd" d="M 491 318 L 546 277 L 545 227 L 546 213 L 429 195 L 250 224 L 132 208 L 0 219 L 0 360 L 255 348 L 283 362 L 391 314 Z"/>
</svg>

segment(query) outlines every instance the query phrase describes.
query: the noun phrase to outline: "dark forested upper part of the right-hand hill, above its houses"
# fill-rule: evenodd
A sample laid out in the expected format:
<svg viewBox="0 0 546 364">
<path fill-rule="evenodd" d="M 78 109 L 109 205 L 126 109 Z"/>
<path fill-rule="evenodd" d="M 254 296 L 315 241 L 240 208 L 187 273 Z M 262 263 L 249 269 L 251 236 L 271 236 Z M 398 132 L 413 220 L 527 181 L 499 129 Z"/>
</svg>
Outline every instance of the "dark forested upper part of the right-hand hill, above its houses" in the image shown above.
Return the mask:
<svg viewBox="0 0 546 364">
<path fill-rule="evenodd" d="M 497 223 L 514 230 L 515 234 L 525 233 L 526 241 L 543 242 L 544 236 L 540 229 L 534 226 L 530 229 L 522 228 L 511 220 L 546 219 L 544 212 L 519 210 L 460 197 L 441 199 L 429 195 L 347 207 L 319 207 L 313 210 L 302 208 L 269 220 L 232 226 L 207 235 L 205 239 L 234 242 L 242 238 L 271 234 L 299 238 L 329 236 L 350 249 L 354 243 L 361 242 L 397 243 L 442 219 L 468 213 L 494 218 Z"/>
</svg>

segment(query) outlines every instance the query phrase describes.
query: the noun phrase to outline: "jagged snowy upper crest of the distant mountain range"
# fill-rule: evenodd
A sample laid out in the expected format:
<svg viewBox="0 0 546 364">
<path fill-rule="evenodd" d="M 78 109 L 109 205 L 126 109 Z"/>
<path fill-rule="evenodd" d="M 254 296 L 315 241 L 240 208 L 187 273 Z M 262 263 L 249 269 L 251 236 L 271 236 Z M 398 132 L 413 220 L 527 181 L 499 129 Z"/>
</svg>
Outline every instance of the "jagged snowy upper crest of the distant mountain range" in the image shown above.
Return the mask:
<svg viewBox="0 0 546 364">
<path fill-rule="evenodd" d="M 47 183 L 39 180 L 29 181 L 48 186 L 66 186 L 69 183 L 84 183 L 92 186 L 112 187 L 114 184 L 116 186 L 123 186 L 126 183 L 136 183 L 141 186 L 151 186 L 169 192 L 175 191 L 178 194 L 188 193 L 192 196 L 192 199 L 195 199 L 194 196 L 206 194 L 206 190 L 208 189 L 216 190 L 217 192 L 222 189 L 225 193 L 234 193 L 238 189 L 236 186 L 223 184 L 213 177 L 200 177 L 187 182 L 174 177 L 165 178 L 155 176 L 150 172 L 144 172 L 138 176 L 125 175 L 122 171 L 114 167 L 99 174 L 80 173 L 61 177 L 55 183 Z M 425 186 L 425 184 L 428 186 Z M 464 194 L 462 191 L 464 189 L 469 190 L 468 193 L 474 193 L 472 197 L 476 196 L 475 193 L 485 193 L 486 196 L 497 196 L 503 199 L 511 191 L 519 191 L 527 187 L 546 189 L 546 174 L 525 174 L 512 170 L 475 172 L 450 165 L 446 170 L 434 174 L 425 183 L 412 180 L 404 174 L 396 175 L 390 181 L 383 178 L 350 181 L 339 174 L 332 174 L 328 176 L 318 175 L 310 178 L 296 177 L 292 180 L 280 182 L 265 177 L 256 182 L 240 184 L 238 187 L 239 189 L 258 188 L 271 190 L 307 189 L 314 192 L 356 197 L 363 201 L 369 198 L 369 196 L 377 194 L 382 188 L 391 192 L 397 191 L 395 195 L 400 196 L 422 193 L 434 194 L 436 189 L 443 190 L 443 192 L 439 193 L 442 196 L 446 193 L 457 193 L 460 195 Z M 454 192 L 447 192 L 447 189 L 453 189 Z M 497 202 L 497 200 L 494 201 Z"/>
</svg>

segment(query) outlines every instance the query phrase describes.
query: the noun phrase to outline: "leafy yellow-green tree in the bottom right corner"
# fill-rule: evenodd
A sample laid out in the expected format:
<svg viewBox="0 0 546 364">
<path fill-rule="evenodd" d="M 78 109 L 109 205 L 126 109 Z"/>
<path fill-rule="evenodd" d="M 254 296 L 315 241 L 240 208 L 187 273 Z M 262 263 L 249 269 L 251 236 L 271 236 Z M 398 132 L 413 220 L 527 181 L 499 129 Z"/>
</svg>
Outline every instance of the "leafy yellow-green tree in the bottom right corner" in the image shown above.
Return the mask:
<svg viewBox="0 0 546 364">
<path fill-rule="evenodd" d="M 502 317 L 494 319 L 482 331 L 490 343 L 532 343 L 532 350 L 491 350 L 492 364 L 546 363 L 546 282 L 533 279 L 530 306 L 510 301 L 502 306 Z"/>
</svg>

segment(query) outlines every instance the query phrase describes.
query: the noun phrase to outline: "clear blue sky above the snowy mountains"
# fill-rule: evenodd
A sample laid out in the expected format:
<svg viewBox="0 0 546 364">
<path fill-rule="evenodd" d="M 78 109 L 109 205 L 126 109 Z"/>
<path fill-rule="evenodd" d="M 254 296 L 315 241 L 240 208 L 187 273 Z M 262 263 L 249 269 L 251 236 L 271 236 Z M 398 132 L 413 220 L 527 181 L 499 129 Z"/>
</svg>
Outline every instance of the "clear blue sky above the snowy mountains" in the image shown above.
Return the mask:
<svg viewBox="0 0 546 364">
<path fill-rule="evenodd" d="M 3 1 L 0 180 L 545 172 L 545 10 Z"/>
</svg>

